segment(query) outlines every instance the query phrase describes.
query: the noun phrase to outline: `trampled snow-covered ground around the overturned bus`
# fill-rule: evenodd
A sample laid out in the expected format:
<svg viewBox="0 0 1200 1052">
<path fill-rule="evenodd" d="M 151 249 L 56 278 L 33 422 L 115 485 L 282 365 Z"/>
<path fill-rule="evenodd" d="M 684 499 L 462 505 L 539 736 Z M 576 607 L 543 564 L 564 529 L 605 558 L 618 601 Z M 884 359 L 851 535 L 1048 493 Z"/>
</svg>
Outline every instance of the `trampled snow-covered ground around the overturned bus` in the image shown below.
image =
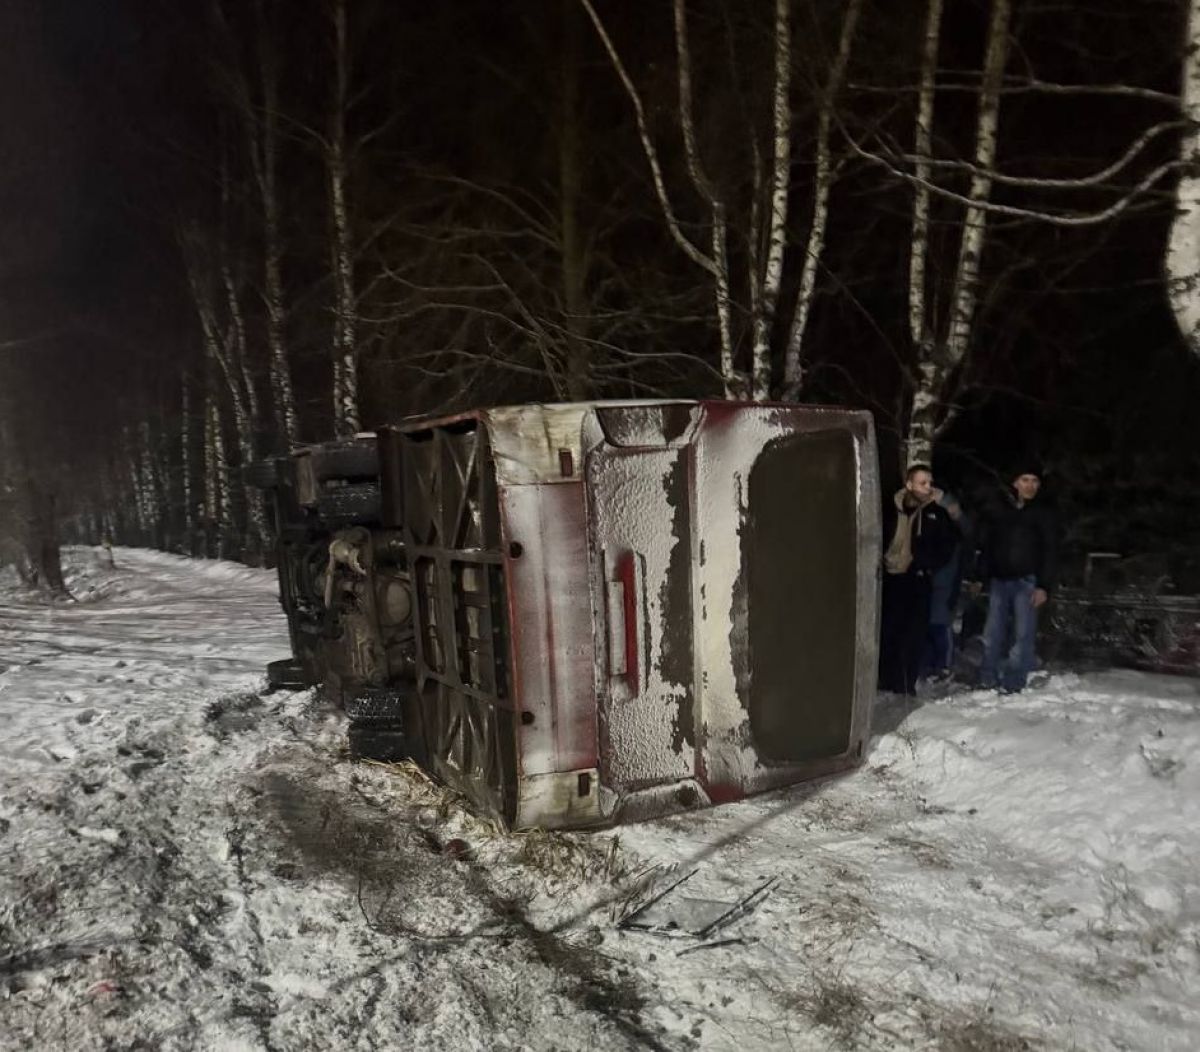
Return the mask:
<svg viewBox="0 0 1200 1052">
<path fill-rule="evenodd" d="M 1200 684 L 882 701 L 868 762 L 594 835 L 502 836 L 352 764 L 274 576 L 0 575 L 0 1047 L 1200 1047 Z M 660 916 L 617 921 L 670 880 Z M 704 901 L 708 900 L 708 901 Z"/>
</svg>

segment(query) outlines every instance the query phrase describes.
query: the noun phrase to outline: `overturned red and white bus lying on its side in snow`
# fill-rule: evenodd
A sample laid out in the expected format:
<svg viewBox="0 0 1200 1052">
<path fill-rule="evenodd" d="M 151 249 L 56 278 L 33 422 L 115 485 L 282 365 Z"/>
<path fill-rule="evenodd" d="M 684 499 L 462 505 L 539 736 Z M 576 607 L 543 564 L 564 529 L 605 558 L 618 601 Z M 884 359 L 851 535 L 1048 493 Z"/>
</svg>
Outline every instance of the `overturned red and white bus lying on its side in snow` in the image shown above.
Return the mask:
<svg viewBox="0 0 1200 1052">
<path fill-rule="evenodd" d="M 876 673 L 865 413 L 480 409 L 256 465 L 293 661 L 352 751 L 510 828 L 606 824 L 854 765 Z"/>
</svg>

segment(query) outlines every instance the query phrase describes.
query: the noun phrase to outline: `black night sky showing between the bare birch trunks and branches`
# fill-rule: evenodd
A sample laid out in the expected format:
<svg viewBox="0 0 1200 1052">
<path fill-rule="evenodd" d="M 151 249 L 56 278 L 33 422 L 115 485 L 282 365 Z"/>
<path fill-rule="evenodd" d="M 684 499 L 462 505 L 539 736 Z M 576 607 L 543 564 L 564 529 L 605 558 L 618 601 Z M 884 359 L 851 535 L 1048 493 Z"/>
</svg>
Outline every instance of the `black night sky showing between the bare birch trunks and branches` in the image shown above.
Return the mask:
<svg viewBox="0 0 1200 1052">
<path fill-rule="evenodd" d="M 391 319 L 368 333 L 361 365 L 367 423 L 461 408 L 462 401 L 553 393 L 538 377 L 536 359 L 522 357 L 524 351 L 505 342 L 509 330 L 481 320 L 482 312 L 468 326 L 460 314 L 430 306 L 438 299 L 430 288 L 476 283 L 478 267 L 494 260 L 486 241 L 457 257 L 437 254 L 428 248 L 434 242 L 428 232 L 451 223 L 490 236 L 503 229 L 511 216 L 487 198 L 492 187 L 526 194 L 522 204 L 545 209 L 550 220 L 557 215 L 565 6 L 558 0 L 350 5 L 361 30 L 353 53 L 362 91 L 352 131 L 383 128 L 355 172 L 364 229 L 368 214 L 371 220 L 403 214 L 395 229 L 372 242 L 402 281 L 379 293 L 371 308 L 407 313 L 403 321 Z M 235 41 L 229 54 L 214 44 L 206 4 L 0 2 L 6 42 L 0 64 L 0 341 L 6 345 L 0 381 L 11 419 L 37 437 L 42 455 L 55 464 L 94 474 L 106 457 L 112 459 L 106 451 L 122 428 L 145 419 L 168 431 L 178 425 L 180 369 L 200 362 L 202 345 L 174 232 L 184 220 L 220 226 L 214 202 L 222 156 L 240 194 L 227 227 L 245 271 L 251 345 L 262 344 L 251 178 L 222 80 L 224 62 L 252 68 L 254 5 L 226 7 Z M 668 176 L 672 168 L 678 176 L 670 6 L 636 5 L 636 20 L 628 5 L 599 7 L 646 95 Z M 912 84 L 918 7 L 901 12 L 895 5 L 866 5 L 850 74 L 856 91 Z M 704 2 L 696 8 L 698 62 L 718 62 L 722 34 L 733 32 L 745 48 L 732 80 L 721 79 L 727 71 L 718 65 L 698 78 L 706 114 L 701 133 L 712 168 L 719 180 L 733 181 L 749 170 L 749 154 L 737 145 L 745 121 L 726 102 L 732 89 L 707 85 L 737 82 L 742 106 L 761 101 L 751 71 L 769 72 L 769 66 L 745 56 L 761 46 L 769 5 Z M 288 122 L 281 146 L 288 337 L 304 438 L 319 440 L 329 435 L 328 217 L 312 140 L 300 127 L 324 127 L 331 68 L 326 6 L 300 0 L 266 2 L 264 10 Z M 1016 2 L 1014 10 L 1010 76 L 1034 71 L 1060 82 L 1177 90 L 1181 2 Z M 839 5 L 797 4 L 794 12 L 798 53 L 826 62 Z M 943 70 L 978 70 L 985 24 L 986 5 L 949 0 Z M 712 363 L 715 343 L 702 283 L 666 236 L 628 102 L 590 25 L 576 28 L 582 30 L 582 90 L 575 119 L 584 144 L 580 199 L 592 238 L 587 290 L 595 331 L 602 325 L 606 339 L 634 351 L 673 348 Z M 803 98 L 797 102 L 802 133 L 793 215 L 803 228 L 804 187 L 811 179 L 804 124 L 811 96 L 803 76 L 794 94 Z M 898 91 L 853 94 L 847 124 L 856 133 L 882 127 L 898 139 L 907 136 L 906 97 L 911 101 Z M 946 92 L 938 107 L 935 150 L 966 156 L 972 97 Z M 1021 174 L 1078 174 L 1118 156 L 1140 130 L 1163 119 L 1160 108 L 1135 100 L 1014 94 L 1003 103 L 998 163 Z M 1147 151 L 1146 164 L 1174 148 L 1163 137 Z M 472 197 L 475 190 L 463 191 L 456 181 L 481 190 Z M 1120 509 L 1128 528 L 1105 536 L 1097 525 L 1081 543 L 1195 542 L 1200 495 L 1192 413 L 1200 397 L 1200 363 L 1183 349 L 1162 288 L 1169 191 L 1163 184 L 1120 221 L 1079 232 L 1020 220 L 994 223 L 974 381 L 937 453 L 949 481 L 970 486 L 1003 459 L 1034 451 L 1050 465 L 1051 489 L 1073 515 L 1100 522 L 1105 509 L 1110 515 Z M 679 199 L 685 221 L 698 218 L 695 199 L 685 193 Z M 1072 206 L 1086 210 L 1104 200 L 1097 192 Z M 898 363 L 907 354 L 907 209 L 904 187 L 847 163 L 833 198 L 827 271 L 810 332 L 809 397 L 871 408 L 886 464 L 895 456 Z M 935 244 L 953 232 L 948 212 L 935 215 Z M 539 253 L 533 246 L 508 252 L 503 269 L 534 313 L 551 309 L 546 290 L 559 283 L 557 260 Z M 468 256 L 475 269 L 462 263 Z M 785 294 L 788 281 L 794 290 L 794 278 L 786 278 Z M 425 290 L 421 302 L 413 299 L 416 288 Z M 492 309 L 491 302 L 485 306 Z M 426 360 L 413 350 L 457 354 L 461 347 L 498 347 L 494 354 L 511 361 L 494 371 L 473 365 L 463 372 L 451 367 L 454 357 Z M 710 368 L 654 366 L 637 375 L 661 393 L 715 393 Z M 598 381 L 596 393 L 630 393 L 623 383 L 625 374 L 614 368 Z M 270 446 L 272 438 L 264 432 L 262 441 Z M 1129 525 L 1138 517 L 1130 504 L 1152 507 L 1153 522 Z"/>
</svg>

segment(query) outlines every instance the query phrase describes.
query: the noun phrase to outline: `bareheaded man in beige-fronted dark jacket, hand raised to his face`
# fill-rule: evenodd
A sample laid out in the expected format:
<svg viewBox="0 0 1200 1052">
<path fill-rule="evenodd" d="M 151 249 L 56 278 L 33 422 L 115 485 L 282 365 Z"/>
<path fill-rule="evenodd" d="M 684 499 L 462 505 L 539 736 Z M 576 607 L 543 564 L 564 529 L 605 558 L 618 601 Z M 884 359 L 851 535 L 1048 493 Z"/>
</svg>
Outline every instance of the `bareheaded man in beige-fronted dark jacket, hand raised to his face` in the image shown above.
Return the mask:
<svg viewBox="0 0 1200 1052">
<path fill-rule="evenodd" d="M 932 577 L 958 542 L 958 528 L 934 500 L 934 473 L 926 464 L 913 464 L 904 487 L 884 501 L 883 537 L 880 690 L 911 695 L 929 631 Z"/>
</svg>

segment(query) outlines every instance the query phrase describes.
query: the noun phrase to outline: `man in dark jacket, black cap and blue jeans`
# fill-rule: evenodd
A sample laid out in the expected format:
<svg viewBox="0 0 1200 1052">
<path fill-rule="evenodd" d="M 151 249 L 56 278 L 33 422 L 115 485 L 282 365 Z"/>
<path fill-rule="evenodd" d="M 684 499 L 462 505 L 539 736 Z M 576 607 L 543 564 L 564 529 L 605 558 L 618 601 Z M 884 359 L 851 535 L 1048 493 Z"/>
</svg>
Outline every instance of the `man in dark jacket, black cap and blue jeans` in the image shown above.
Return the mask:
<svg viewBox="0 0 1200 1052">
<path fill-rule="evenodd" d="M 985 517 L 979 539 L 988 578 L 979 685 L 1013 693 L 1025 690 L 1037 662 L 1038 611 L 1057 576 L 1058 530 L 1054 512 L 1037 501 L 1042 469 L 1019 464 L 1008 479 L 1010 485 Z"/>
</svg>

